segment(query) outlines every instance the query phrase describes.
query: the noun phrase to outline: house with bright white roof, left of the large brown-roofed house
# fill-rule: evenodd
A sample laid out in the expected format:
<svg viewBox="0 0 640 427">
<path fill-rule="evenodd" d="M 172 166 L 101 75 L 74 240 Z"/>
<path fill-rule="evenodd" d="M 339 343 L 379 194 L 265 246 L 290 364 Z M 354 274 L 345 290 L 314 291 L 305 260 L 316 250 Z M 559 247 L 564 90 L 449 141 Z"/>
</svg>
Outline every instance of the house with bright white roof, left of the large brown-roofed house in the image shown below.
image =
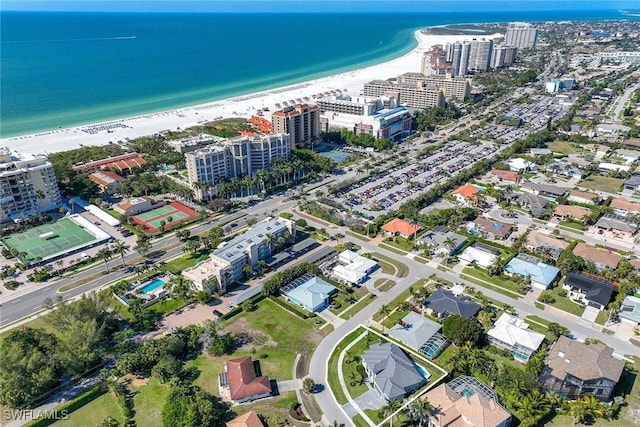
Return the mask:
<svg viewBox="0 0 640 427">
<path fill-rule="evenodd" d="M 544 335 L 529 329 L 529 324 L 502 313 L 487 332 L 489 344 L 509 351 L 518 362 L 526 362 L 538 350 Z"/>
</svg>

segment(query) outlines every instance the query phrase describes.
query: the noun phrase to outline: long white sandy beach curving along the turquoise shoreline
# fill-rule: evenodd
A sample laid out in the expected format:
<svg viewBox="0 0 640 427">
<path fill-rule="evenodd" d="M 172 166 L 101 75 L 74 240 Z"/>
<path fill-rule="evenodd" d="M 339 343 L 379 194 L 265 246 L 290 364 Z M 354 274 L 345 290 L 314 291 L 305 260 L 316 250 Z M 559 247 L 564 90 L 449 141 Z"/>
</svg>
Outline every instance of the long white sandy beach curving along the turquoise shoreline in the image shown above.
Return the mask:
<svg viewBox="0 0 640 427">
<path fill-rule="evenodd" d="M 399 58 L 371 67 L 336 74 L 295 85 L 284 86 L 235 98 L 214 101 L 185 108 L 144 114 L 108 122 L 56 129 L 32 135 L 0 139 L 0 146 L 28 154 L 46 154 L 70 150 L 86 145 L 106 145 L 140 136 L 153 135 L 162 130 L 185 129 L 190 126 L 227 117 L 250 117 L 257 110 L 277 110 L 276 104 L 312 102 L 317 96 L 335 94 L 338 91 L 359 93 L 366 82 L 388 79 L 405 72 L 419 72 L 422 54 L 434 44 L 470 39 L 469 35 L 425 35 L 416 31 L 418 46 Z M 496 38 L 484 36 L 486 38 Z M 270 112 L 265 118 L 270 119 Z"/>
</svg>

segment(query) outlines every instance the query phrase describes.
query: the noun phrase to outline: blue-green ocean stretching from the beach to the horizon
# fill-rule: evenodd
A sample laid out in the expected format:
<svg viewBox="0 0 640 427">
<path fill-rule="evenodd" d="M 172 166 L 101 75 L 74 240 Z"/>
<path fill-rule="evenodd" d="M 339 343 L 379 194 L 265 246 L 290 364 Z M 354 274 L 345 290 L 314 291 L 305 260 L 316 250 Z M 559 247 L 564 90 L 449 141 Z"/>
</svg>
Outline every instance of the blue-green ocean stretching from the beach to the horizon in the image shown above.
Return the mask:
<svg viewBox="0 0 640 427">
<path fill-rule="evenodd" d="M 413 32 L 468 22 L 630 19 L 619 11 L 0 12 L 0 137 L 257 92 L 380 63 Z"/>
</svg>

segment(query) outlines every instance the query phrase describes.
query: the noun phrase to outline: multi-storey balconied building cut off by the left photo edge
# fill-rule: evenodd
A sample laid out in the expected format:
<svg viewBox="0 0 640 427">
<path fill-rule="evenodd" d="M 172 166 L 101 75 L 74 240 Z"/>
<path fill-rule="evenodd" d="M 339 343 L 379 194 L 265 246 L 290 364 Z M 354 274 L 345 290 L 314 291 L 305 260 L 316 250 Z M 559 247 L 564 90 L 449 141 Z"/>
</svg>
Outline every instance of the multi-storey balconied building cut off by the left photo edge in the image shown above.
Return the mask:
<svg viewBox="0 0 640 427">
<path fill-rule="evenodd" d="M 0 222 L 19 221 L 62 204 L 51 162 L 0 147 Z"/>
</svg>

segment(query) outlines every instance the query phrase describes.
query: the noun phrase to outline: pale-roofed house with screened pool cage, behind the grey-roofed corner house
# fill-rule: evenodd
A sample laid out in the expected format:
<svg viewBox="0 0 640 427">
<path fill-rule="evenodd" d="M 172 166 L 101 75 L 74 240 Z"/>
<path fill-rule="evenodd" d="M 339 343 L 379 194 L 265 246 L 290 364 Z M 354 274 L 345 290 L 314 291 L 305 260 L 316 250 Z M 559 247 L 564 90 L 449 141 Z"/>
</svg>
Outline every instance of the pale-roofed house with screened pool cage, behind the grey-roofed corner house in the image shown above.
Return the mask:
<svg viewBox="0 0 640 427">
<path fill-rule="evenodd" d="M 389 336 L 433 359 L 448 345 L 439 333 L 440 327 L 439 323 L 411 311 L 389 329 Z"/>
</svg>

